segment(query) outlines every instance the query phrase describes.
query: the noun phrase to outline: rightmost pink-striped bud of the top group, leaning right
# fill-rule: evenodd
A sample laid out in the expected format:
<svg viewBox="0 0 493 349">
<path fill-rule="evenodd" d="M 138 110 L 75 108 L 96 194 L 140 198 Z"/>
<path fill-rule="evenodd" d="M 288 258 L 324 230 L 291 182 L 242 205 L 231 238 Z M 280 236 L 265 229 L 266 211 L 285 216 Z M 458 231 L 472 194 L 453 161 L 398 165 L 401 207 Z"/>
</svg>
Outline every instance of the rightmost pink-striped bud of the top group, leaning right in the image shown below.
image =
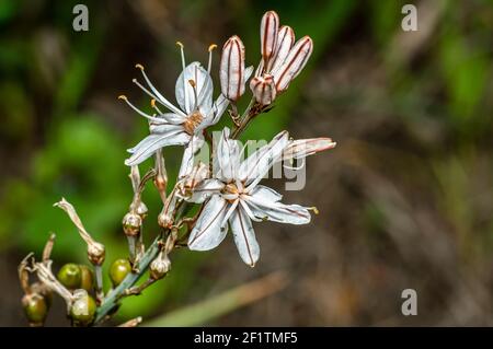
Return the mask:
<svg viewBox="0 0 493 349">
<path fill-rule="evenodd" d="M 289 50 L 285 61 L 273 72 L 276 81 L 277 92 L 287 90 L 289 83 L 295 79 L 310 58 L 313 50 L 313 42 L 309 36 L 305 36 L 296 42 Z"/>
</svg>

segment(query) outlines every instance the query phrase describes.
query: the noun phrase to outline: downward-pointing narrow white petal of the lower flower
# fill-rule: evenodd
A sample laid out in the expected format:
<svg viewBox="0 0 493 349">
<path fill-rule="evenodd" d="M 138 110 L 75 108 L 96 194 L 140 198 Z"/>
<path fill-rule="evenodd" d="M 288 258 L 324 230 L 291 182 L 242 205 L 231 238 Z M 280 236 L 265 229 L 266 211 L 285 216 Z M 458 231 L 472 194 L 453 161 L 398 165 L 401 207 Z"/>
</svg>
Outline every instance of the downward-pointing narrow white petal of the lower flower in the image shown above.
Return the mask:
<svg viewBox="0 0 493 349">
<path fill-rule="evenodd" d="M 241 259 L 249 266 L 254 267 L 260 257 L 260 246 L 255 239 L 252 221 L 244 210 L 238 207 L 231 214 L 229 224 Z"/>
</svg>

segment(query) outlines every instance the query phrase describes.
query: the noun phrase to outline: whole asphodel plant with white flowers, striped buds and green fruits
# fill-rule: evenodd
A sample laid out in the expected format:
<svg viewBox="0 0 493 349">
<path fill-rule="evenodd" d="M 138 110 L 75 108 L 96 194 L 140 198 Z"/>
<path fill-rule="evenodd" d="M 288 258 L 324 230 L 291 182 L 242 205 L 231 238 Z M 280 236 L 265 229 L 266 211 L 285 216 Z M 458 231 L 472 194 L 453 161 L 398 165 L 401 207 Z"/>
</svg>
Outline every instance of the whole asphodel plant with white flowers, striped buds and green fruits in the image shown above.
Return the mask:
<svg viewBox="0 0 493 349">
<path fill-rule="evenodd" d="M 295 140 L 288 131 L 280 130 L 246 155 L 246 147 L 242 147 L 238 138 L 254 118 L 272 108 L 301 72 L 313 50 L 313 42 L 309 36 L 296 40 L 293 28 L 280 26 L 277 13 L 268 11 L 261 21 L 260 45 L 260 62 L 254 68 L 245 66 L 246 51 L 239 36 L 231 36 L 223 44 L 218 74 L 220 91 L 216 98 L 211 78 L 216 45 L 208 47 L 208 62 L 203 67 L 198 61 L 187 65 L 184 45 L 177 43 L 183 71 L 176 80 L 176 103 L 158 91 L 142 65 L 136 65 L 141 79 L 133 81 L 149 96 L 151 112 L 138 108 L 125 95 L 119 96 L 149 124 L 149 135 L 128 150 L 130 155 L 125 161 L 134 190 L 128 212 L 123 218 L 128 256 L 113 261 L 110 266 L 112 284 L 104 286 L 102 266 L 106 248 L 103 242 L 92 237 L 69 201 L 62 198 L 56 202 L 85 244 L 89 265 L 67 264 L 55 276 L 50 259 L 54 234 L 39 260 L 33 254 L 22 260 L 19 266 L 25 293 L 22 304 L 31 325 L 44 324 L 54 293 L 65 300 L 67 316 L 73 326 L 100 325 L 111 318 L 125 298 L 141 294 L 170 272 L 170 255 L 179 246 L 192 251 L 213 249 L 231 232 L 241 259 L 254 267 L 260 258 L 260 246 L 253 222 L 310 222 L 311 211 L 317 213 L 314 207 L 285 203 L 280 194 L 261 182 L 274 166 L 280 164 L 293 170 L 295 162 L 303 163 L 306 156 L 334 148 L 335 142 L 324 137 Z M 239 101 L 245 95 L 246 86 L 251 92 L 250 103 L 240 113 Z M 230 118 L 230 127 L 211 135 L 210 128 L 222 117 Z M 170 146 L 183 149 L 173 187 L 169 187 L 164 158 Z M 207 153 L 209 163 L 197 160 L 199 152 Z M 153 166 L 141 176 L 139 165 L 148 159 L 153 161 Z M 159 234 L 146 246 L 142 226 L 149 214 L 141 194 L 148 182 L 153 182 L 162 210 L 156 214 Z M 198 209 L 191 210 L 194 206 Z M 147 270 L 148 279 L 141 280 Z M 133 319 L 124 326 L 139 322 L 140 318 Z"/>
</svg>

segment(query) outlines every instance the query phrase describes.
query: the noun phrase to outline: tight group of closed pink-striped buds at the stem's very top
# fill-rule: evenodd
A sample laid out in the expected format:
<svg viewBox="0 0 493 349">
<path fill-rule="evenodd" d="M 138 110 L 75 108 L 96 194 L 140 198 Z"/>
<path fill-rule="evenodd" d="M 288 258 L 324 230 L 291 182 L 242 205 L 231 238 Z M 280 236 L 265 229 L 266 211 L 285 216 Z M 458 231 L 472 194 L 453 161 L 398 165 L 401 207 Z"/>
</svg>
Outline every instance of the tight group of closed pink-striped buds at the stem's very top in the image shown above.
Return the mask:
<svg viewBox="0 0 493 349">
<path fill-rule="evenodd" d="M 276 95 L 286 91 L 289 83 L 300 73 L 313 50 L 309 36 L 295 43 L 295 32 L 283 25 L 279 16 L 267 11 L 261 22 L 262 61 L 250 81 L 250 89 L 256 102 L 268 105 Z"/>
</svg>

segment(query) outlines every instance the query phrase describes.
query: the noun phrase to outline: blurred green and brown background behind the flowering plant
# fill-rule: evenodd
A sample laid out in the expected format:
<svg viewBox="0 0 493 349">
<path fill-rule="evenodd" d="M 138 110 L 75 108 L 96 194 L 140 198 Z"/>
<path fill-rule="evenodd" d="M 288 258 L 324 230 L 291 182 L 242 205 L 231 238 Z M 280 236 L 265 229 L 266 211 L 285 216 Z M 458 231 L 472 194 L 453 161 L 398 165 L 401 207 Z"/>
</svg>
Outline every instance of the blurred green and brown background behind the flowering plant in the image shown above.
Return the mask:
<svg viewBox="0 0 493 349">
<path fill-rule="evenodd" d="M 131 188 L 123 161 L 147 126 L 116 96 L 149 103 L 131 83 L 135 63 L 174 100 L 176 40 L 188 61 L 205 62 L 209 44 L 238 34 L 256 66 L 260 19 L 271 9 L 297 37 L 310 35 L 314 51 L 243 138 L 283 128 L 334 138 L 335 150 L 308 160 L 305 190 L 285 195 L 321 213 L 307 226 L 257 225 L 254 269 L 231 239 L 211 253 L 174 253 L 171 275 L 126 300 L 115 323 L 142 315 L 167 325 L 493 324 L 491 1 L 94 0 L 83 1 L 89 32 L 74 32 L 79 2 L 0 0 L 0 325 L 25 325 L 16 265 L 39 254 L 49 232 L 55 270 L 85 259 L 74 228 L 53 208 L 60 197 L 106 245 L 107 260 L 126 256 L 121 220 Z M 404 3 L 417 5 L 417 32 L 401 30 Z M 218 61 L 216 54 L 216 85 Z M 179 153 L 165 151 L 171 174 Z M 160 200 L 149 189 L 150 240 Z M 259 296 L 214 300 L 279 270 L 282 289 L 267 280 L 253 289 Z M 400 312 L 406 288 L 417 291 L 417 316 Z M 259 300 L 270 289 L 277 292 Z M 160 317 L 190 304 L 198 306 Z M 59 303 L 47 325 L 64 324 Z"/>
</svg>

